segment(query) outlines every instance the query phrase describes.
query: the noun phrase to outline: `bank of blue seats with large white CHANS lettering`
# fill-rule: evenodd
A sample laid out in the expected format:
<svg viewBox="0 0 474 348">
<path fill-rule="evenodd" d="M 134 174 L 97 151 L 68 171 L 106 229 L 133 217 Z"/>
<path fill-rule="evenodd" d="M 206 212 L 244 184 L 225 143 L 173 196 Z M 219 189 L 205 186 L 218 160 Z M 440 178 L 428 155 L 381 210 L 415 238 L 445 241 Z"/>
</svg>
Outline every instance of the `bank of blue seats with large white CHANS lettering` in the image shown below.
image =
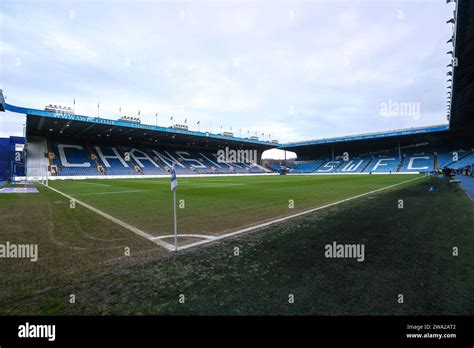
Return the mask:
<svg viewBox="0 0 474 348">
<path fill-rule="evenodd" d="M 57 141 L 51 141 L 50 147 L 55 153 L 58 176 L 166 175 L 173 165 L 178 175 L 265 173 L 262 167 L 251 163 L 220 163 L 217 155 L 209 151 Z M 104 172 L 99 172 L 99 166 Z"/>
</svg>

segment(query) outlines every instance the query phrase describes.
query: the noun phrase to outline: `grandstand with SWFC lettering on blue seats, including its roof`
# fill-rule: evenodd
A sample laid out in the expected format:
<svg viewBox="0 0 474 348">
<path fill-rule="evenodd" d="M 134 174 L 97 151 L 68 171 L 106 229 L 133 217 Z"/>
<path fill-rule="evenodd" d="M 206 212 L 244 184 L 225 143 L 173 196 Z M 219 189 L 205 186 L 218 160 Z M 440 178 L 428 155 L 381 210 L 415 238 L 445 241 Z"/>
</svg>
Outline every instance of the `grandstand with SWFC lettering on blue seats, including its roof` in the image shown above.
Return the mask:
<svg viewBox="0 0 474 348">
<path fill-rule="evenodd" d="M 474 163 L 474 142 L 448 125 L 283 144 L 297 154 L 290 174 L 414 174 Z M 347 156 L 344 156 L 346 154 Z"/>
</svg>

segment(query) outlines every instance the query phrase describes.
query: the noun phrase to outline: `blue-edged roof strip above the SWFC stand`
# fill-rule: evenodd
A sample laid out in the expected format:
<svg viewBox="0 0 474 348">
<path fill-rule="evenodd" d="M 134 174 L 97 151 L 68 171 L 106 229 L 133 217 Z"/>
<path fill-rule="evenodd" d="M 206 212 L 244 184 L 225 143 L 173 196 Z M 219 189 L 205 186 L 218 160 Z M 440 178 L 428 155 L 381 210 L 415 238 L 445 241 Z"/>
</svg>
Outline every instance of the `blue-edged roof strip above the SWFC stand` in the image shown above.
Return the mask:
<svg viewBox="0 0 474 348">
<path fill-rule="evenodd" d="M 399 130 L 392 130 L 392 131 L 385 131 L 385 132 L 364 133 L 364 134 L 349 135 L 349 136 L 343 136 L 343 137 L 301 141 L 301 142 L 295 142 L 295 143 L 282 144 L 280 148 L 292 150 L 294 148 L 311 146 L 311 145 L 343 143 L 343 142 L 351 142 L 351 141 L 365 141 L 369 139 L 379 139 L 379 138 L 396 138 L 396 137 L 413 136 L 413 135 L 426 134 L 426 133 L 445 132 L 448 130 L 449 130 L 449 125 L 442 124 L 442 125 L 435 125 L 435 126 L 428 126 L 428 127 L 417 127 L 417 128 L 399 129 Z"/>
</svg>

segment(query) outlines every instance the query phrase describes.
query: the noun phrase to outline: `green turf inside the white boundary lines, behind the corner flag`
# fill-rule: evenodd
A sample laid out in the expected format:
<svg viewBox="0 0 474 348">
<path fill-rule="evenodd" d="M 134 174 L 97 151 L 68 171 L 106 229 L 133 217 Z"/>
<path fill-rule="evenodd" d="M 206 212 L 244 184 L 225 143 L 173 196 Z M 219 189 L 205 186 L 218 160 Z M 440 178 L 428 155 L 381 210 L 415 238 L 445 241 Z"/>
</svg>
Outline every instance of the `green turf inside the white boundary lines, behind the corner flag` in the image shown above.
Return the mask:
<svg viewBox="0 0 474 348">
<path fill-rule="evenodd" d="M 179 179 L 180 233 L 222 234 L 415 178 L 414 175 L 252 176 Z M 152 235 L 173 231 L 169 179 L 50 181 Z M 105 186 L 107 185 L 107 186 Z M 294 207 L 290 208 L 290 200 Z"/>
</svg>

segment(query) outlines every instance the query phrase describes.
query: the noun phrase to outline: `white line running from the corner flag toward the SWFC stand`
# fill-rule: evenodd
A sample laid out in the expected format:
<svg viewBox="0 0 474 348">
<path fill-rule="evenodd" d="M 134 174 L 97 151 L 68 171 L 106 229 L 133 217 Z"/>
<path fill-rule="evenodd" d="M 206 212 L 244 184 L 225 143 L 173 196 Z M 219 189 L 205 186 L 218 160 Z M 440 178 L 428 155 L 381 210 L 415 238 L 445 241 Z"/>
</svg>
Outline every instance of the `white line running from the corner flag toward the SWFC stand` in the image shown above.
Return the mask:
<svg viewBox="0 0 474 348">
<path fill-rule="evenodd" d="M 285 221 L 285 220 L 293 219 L 293 218 L 295 218 L 295 217 L 298 217 L 298 216 L 301 216 L 301 215 L 305 215 L 305 214 L 309 214 L 309 213 L 312 213 L 312 212 L 317 211 L 317 210 L 329 208 L 329 207 L 332 207 L 333 205 L 337 205 L 337 204 L 341 204 L 341 203 L 344 203 L 344 202 L 348 202 L 348 201 L 353 200 L 353 199 L 357 199 L 357 198 L 360 198 L 360 197 L 363 197 L 363 196 L 367 196 L 367 195 L 370 195 L 370 194 L 373 194 L 373 193 L 376 193 L 376 192 L 379 192 L 379 191 L 387 190 L 387 189 L 389 189 L 389 188 L 392 188 L 392 187 L 395 187 L 395 186 L 399 186 L 399 185 L 402 185 L 402 184 L 406 184 L 406 183 L 408 183 L 408 182 L 410 182 L 410 181 L 414 181 L 414 180 L 418 180 L 418 179 L 422 179 L 422 178 L 424 178 L 424 176 L 420 176 L 420 177 L 418 177 L 418 178 L 414 178 L 414 179 L 402 181 L 402 182 L 399 182 L 399 183 L 397 183 L 397 184 L 389 185 L 389 186 L 386 186 L 386 187 L 379 188 L 379 189 L 377 189 L 377 190 L 373 190 L 373 191 L 370 191 L 370 192 L 362 193 L 362 194 L 357 195 L 357 196 L 345 198 L 345 199 L 343 199 L 343 200 L 340 200 L 340 201 L 337 201 L 337 202 L 334 202 L 334 203 L 329 203 L 329 204 L 322 205 L 322 206 L 317 207 L 317 208 L 312 208 L 312 209 L 305 210 L 305 211 L 301 211 L 301 212 L 299 212 L 299 213 L 295 213 L 295 214 L 292 214 L 292 215 L 288 215 L 288 216 L 285 216 L 285 217 L 282 217 L 282 218 L 279 218 L 279 219 L 275 219 L 275 220 L 268 221 L 268 222 L 264 222 L 264 223 L 261 223 L 261 224 L 258 224 L 258 225 L 250 226 L 250 227 L 247 227 L 247 228 L 238 230 L 238 231 L 226 233 L 226 234 L 223 234 L 223 235 L 220 235 L 220 236 L 216 236 L 216 237 L 213 238 L 213 239 L 205 239 L 205 240 L 202 240 L 202 241 L 199 241 L 199 242 L 195 242 L 195 243 L 191 243 L 191 244 L 186 244 L 186 245 L 183 245 L 183 246 L 181 246 L 181 247 L 178 247 L 178 250 L 184 250 L 184 249 L 192 248 L 192 247 L 195 247 L 195 246 L 197 246 L 197 245 L 206 244 L 206 243 L 211 243 L 211 242 L 214 242 L 214 241 L 219 240 L 219 239 L 224 239 L 224 238 L 236 236 L 236 235 L 239 235 L 239 234 L 242 234 L 242 233 L 245 233 L 245 232 L 250 232 L 250 231 L 253 231 L 253 230 L 257 230 L 257 229 L 260 229 L 260 228 L 262 228 L 262 227 L 267 227 L 267 226 L 270 226 L 270 225 L 273 225 L 273 224 L 276 224 L 276 223 L 279 223 L 279 222 L 282 222 L 282 221 Z M 203 237 L 203 238 L 205 238 L 205 237 Z"/>
</svg>

